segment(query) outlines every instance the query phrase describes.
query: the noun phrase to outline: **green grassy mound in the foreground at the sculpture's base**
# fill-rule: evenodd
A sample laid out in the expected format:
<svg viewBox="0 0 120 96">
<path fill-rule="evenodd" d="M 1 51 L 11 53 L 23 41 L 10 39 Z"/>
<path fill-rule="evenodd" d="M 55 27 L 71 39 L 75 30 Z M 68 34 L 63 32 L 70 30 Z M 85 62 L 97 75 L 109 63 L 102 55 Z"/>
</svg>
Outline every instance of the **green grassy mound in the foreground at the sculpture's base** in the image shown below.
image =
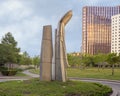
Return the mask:
<svg viewBox="0 0 120 96">
<path fill-rule="evenodd" d="M 44 82 L 39 79 L 0 83 L 0 96 L 109 96 L 112 89 L 80 81 Z"/>
</svg>

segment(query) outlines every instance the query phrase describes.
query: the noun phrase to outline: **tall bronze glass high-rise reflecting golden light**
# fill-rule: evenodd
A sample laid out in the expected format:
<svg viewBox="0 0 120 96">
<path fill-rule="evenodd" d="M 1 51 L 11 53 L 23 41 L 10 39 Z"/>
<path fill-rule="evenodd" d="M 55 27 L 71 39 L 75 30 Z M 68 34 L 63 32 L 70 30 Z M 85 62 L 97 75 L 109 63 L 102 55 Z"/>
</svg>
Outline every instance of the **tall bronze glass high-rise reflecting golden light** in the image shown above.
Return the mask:
<svg viewBox="0 0 120 96">
<path fill-rule="evenodd" d="M 82 53 L 111 52 L 111 16 L 120 13 L 120 6 L 85 6 L 82 11 Z"/>
</svg>

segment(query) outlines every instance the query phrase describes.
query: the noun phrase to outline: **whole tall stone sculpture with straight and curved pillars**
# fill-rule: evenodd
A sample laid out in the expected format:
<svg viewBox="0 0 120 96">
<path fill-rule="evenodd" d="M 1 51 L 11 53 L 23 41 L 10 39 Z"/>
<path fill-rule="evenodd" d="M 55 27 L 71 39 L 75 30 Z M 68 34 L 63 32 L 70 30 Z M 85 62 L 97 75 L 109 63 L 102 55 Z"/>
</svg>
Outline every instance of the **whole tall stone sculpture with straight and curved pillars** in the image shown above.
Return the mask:
<svg viewBox="0 0 120 96">
<path fill-rule="evenodd" d="M 55 32 L 54 50 L 52 48 L 52 29 L 50 26 L 43 27 L 40 63 L 41 80 L 57 80 L 62 82 L 67 80 L 65 69 L 68 66 L 68 60 L 65 45 L 65 26 L 71 17 L 72 11 L 70 10 L 58 22 L 58 28 Z"/>
</svg>

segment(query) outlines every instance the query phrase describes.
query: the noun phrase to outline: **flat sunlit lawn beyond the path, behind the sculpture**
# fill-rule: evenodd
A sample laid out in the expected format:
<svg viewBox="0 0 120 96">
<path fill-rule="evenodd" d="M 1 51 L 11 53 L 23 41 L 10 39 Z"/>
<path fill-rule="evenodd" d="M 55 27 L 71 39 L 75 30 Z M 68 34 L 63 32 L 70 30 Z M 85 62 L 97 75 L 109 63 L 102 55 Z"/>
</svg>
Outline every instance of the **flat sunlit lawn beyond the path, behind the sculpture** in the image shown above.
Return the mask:
<svg viewBox="0 0 120 96">
<path fill-rule="evenodd" d="M 32 73 L 39 74 L 39 69 L 30 70 Z M 114 76 L 111 75 L 111 69 L 105 68 L 98 71 L 97 68 L 86 68 L 84 70 L 68 68 L 67 69 L 68 77 L 80 77 L 80 78 L 97 78 L 97 79 L 110 79 L 110 80 L 120 80 L 120 68 L 115 69 Z"/>
</svg>

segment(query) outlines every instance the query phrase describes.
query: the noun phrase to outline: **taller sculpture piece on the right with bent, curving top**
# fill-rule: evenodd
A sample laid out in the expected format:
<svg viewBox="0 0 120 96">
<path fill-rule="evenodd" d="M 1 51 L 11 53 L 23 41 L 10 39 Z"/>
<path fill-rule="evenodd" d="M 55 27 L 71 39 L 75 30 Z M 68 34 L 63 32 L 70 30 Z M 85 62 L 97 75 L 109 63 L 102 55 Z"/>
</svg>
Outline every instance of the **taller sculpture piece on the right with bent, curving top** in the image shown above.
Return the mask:
<svg viewBox="0 0 120 96">
<path fill-rule="evenodd" d="M 65 46 L 65 25 L 72 17 L 72 11 L 68 11 L 59 21 L 55 40 L 55 80 L 66 81 L 66 67 L 68 65 Z"/>
</svg>

